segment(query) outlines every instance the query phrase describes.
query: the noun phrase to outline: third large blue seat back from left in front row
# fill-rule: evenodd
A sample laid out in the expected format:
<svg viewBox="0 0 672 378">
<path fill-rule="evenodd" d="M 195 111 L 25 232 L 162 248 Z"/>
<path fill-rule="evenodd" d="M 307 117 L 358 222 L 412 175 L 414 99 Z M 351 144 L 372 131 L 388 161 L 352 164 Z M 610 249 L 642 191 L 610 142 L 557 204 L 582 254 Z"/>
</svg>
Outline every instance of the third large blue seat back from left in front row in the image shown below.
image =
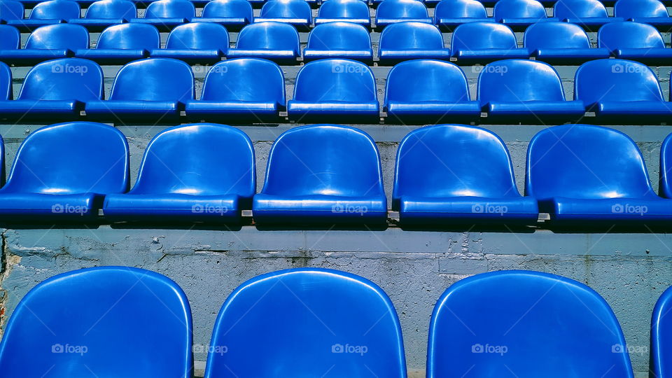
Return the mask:
<svg viewBox="0 0 672 378">
<path fill-rule="evenodd" d="M 468 372 L 468 373 L 466 373 Z M 505 270 L 452 284 L 429 325 L 427 378 L 632 378 L 609 304 L 583 283 Z"/>
</svg>

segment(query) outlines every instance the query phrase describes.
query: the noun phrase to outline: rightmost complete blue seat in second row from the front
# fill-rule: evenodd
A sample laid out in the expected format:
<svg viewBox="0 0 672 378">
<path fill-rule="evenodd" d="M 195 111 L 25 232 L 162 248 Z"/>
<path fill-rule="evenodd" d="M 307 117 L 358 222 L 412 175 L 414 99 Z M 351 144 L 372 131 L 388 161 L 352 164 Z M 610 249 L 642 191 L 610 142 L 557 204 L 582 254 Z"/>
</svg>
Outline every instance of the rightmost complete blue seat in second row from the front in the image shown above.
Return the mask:
<svg viewBox="0 0 672 378">
<path fill-rule="evenodd" d="M 606 127 L 562 125 L 536 134 L 525 193 L 553 221 L 570 225 L 672 220 L 672 201 L 654 193 L 635 142 Z"/>
</svg>

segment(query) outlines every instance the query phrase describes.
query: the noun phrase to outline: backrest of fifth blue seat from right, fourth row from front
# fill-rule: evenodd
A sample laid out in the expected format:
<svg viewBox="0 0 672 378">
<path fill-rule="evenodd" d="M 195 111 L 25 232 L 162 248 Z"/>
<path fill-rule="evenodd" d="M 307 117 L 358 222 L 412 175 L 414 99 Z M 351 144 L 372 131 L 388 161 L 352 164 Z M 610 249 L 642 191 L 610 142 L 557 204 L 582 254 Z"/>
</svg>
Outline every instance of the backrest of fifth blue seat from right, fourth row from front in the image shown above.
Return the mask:
<svg viewBox="0 0 672 378">
<path fill-rule="evenodd" d="M 327 22 L 317 25 L 310 32 L 306 48 L 315 50 L 370 50 L 371 38 L 369 31 L 362 25 L 351 22 Z"/>
</svg>

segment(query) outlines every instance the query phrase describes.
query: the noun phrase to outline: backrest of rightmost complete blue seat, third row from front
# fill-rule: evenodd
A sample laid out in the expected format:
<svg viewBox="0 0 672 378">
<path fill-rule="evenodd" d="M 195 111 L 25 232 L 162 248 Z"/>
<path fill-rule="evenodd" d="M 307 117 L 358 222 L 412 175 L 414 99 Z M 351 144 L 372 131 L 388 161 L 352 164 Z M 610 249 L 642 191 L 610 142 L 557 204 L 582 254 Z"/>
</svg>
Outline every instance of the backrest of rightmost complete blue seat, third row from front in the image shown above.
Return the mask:
<svg viewBox="0 0 672 378">
<path fill-rule="evenodd" d="M 600 59 L 582 64 L 574 79 L 574 98 L 600 101 L 664 101 L 656 74 L 645 64 Z"/>
</svg>

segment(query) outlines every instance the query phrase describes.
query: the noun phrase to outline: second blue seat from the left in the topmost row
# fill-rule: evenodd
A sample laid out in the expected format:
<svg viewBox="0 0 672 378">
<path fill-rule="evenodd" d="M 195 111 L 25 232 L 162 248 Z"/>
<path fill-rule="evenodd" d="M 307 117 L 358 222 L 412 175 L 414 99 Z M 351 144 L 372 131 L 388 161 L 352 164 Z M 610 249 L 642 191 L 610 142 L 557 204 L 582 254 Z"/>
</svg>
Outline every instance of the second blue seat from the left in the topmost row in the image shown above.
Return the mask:
<svg viewBox="0 0 672 378">
<path fill-rule="evenodd" d="M 44 25 L 53 25 L 65 22 L 80 16 L 79 4 L 71 0 L 50 0 L 38 3 L 30 11 L 27 19 L 6 20 L 20 31 L 31 31 Z"/>
</svg>

